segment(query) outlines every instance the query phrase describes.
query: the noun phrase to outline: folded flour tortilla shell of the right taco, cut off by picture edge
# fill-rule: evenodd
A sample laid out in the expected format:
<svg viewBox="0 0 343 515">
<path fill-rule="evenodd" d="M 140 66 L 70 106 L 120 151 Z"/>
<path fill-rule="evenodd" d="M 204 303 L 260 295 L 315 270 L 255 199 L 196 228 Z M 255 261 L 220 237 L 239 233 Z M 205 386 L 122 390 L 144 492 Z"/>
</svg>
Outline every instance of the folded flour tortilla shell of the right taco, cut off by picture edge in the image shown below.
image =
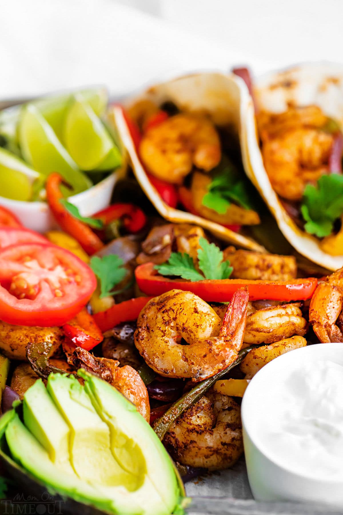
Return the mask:
<svg viewBox="0 0 343 515">
<path fill-rule="evenodd" d="M 332 63 L 303 64 L 256 79 L 254 94 L 259 109 L 281 113 L 288 106 L 316 105 L 343 129 L 343 66 Z M 343 266 L 343 255 L 333 256 L 319 246 L 319 239 L 296 226 L 275 193 L 264 168 L 257 134 L 255 110 L 250 98 L 242 128 L 245 171 L 274 215 L 279 229 L 303 256 L 329 270 Z"/>
</svg>

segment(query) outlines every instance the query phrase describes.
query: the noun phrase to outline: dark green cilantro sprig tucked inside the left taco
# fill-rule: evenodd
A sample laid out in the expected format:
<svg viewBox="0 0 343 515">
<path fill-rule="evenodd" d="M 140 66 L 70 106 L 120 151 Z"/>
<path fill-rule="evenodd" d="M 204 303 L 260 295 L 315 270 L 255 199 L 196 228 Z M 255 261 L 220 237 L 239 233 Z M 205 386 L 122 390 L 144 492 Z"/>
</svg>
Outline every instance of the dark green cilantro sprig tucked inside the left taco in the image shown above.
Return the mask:
<svg viewBox="0 0 343 515">
<path fill-rule="evenodd" d="M 220 215 L 226 213 L 231 202 L 244 209 L 252 209 L 247 182 L 226 158 L 214 171 L 213 180 L 207 190 L 202 200 L 203 205 Z"/>
</svg>

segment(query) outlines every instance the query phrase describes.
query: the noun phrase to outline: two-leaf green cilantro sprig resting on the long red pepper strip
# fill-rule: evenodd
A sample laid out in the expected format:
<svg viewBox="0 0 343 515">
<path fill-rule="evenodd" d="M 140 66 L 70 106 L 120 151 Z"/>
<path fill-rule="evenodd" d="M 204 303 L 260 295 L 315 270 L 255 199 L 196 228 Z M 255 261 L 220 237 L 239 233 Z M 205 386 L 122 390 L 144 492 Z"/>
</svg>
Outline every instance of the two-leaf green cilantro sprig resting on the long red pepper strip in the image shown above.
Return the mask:
<svg viewBox="0 0 343 515">
<path fill-rule="evenodd" d="M 189 254 L 172 252 L 167 263 L 156 265 L 155 269 L 162 276 L 175 276 L 188 279 L 192 282 L 204 279 L 228 279 L 232 273 L 229 261 L 223 261 L 223 252 L 214 243 L 207 239 L 199 239 L 200 249 L 197 251 L 199 268 L 198 272 Z"/>
</svg>

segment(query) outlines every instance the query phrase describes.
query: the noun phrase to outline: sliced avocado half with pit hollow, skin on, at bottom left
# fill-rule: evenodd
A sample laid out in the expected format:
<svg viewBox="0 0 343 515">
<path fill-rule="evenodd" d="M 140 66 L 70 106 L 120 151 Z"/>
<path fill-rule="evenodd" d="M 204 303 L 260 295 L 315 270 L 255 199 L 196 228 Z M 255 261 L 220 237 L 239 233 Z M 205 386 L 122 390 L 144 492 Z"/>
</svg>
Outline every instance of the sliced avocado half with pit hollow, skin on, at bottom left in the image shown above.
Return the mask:
<svg viewBox="0 0 343 515">
<path fill-rule="evenodd" d="M 0 418 L 0 457 L 30 493 L 63 512 L 170 515 L 184 495 L 173 462 L 135 406 L 84 370 L 50 374 Z"/>
</svg>

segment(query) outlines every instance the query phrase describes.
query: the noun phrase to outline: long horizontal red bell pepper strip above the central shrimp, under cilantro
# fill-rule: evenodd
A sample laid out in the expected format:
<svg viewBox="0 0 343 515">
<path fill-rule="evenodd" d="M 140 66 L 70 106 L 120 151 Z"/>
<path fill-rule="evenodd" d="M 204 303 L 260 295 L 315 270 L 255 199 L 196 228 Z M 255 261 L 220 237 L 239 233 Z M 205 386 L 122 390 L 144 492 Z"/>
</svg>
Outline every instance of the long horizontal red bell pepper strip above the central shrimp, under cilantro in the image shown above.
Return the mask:
<svg viewBox="0 0 343 515">
<path fill-rule="evenodd" d="M 245 279 L 220 279 L 186 281 L 159 276 L 153 263 L 144 263 L 135 270 L 136 282 L 147 295 L 161 295 L 173 288 L 192 291 L 207 302 L 227 302 L 235 291 L 248 287 L 249 300 L 307 300 L 317 286 L 317 279 L 292 279 L 290 281 L 249 281 Z"/>
</svg>

